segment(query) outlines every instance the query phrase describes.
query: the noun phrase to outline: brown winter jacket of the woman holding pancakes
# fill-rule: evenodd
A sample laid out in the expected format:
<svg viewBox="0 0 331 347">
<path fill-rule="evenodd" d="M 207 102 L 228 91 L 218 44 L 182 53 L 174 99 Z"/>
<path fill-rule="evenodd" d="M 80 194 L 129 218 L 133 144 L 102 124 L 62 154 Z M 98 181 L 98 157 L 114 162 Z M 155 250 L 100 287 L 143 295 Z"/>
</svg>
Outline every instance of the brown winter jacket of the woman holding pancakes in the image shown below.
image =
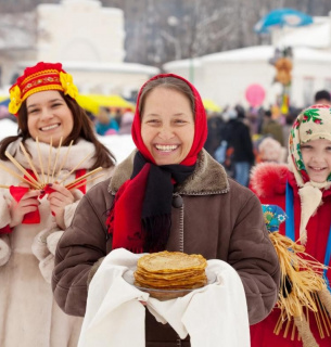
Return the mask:
<svg viewBox="0 0 331 347">
<path fill-rule="evenodd" d="M 68 314 L 85 314 L 87 281 L 112 250 L 106 211 L 116 191 L 130 178 L 133 154 L 118 165 L 111 180 L 85 195 L 59 243 L 52 287 Z M 204 150 L 194 172 L 175 189 L 166 249 L 229 262 L 242 279 L 252 324 L 263 320 L 276 303 L 280 270 L 260 204 L 249 189 L 228 179 L 222 166 Z M 189 338 L 180 345 L 175 331 L 157 323 L 149 311 L 145 339 L 149 347 L 190 346 Z"/>
</svg>

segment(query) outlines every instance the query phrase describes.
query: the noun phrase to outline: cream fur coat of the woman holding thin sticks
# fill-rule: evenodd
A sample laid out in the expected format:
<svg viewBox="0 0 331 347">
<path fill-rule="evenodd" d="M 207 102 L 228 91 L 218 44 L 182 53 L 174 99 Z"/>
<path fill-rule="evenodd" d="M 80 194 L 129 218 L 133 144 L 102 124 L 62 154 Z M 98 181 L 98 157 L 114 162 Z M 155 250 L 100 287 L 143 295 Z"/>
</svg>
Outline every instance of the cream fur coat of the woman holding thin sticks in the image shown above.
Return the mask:
<svg viewBox="0 0 331 347">
<path fill-rule="evenodd" d="M 28 162 L 20 149 L 20 140 L 11 143 L 8 152 L 25 168 Z M 31 154 L 33 164 L 41 177 L 38 158 L 38 147 L 31 139 L 25 142 L 25 147 Z M 39 143 L 43 171 L 47 172 L 50 146 Z M 92 167 L 96 154 L 94 145 L 80 139 L 77 144 L 61 147 L 55 172 L 66 162 L 60 172 L 60 178 L 68 175 L 87 154 L 91 156 L 81 163 L 77 169 Z M 51 163 L 55 163 L 58 149 L 52 149 Z M 11 162 L 1 165 L 23 174 Z M 106 178 L 111 169 L 104 170 Z M 64 183 L 75 179 L 75 172 L 69 175 Z M 99 179 L 100 181 L 100 179 Z M 18 179 L 1 170 L 1 184 L 17 185 Z M 98 183 L 88 183 L 87 190 Z M 79 190 L 72 191 L 76 202 L 66 206 L 64 222 L 67 227 L 73 218 L 76 206 L 84 195 Z M 0 191 L 0 228 L 11 221 L 8 208 L 12 200 L 8 190 Z M 56 226 L 52 217 L 47 196 L 40 200 L 40 223 L 20 224 L 9 234 L 0 235 L 0 346 L 1 347 L 76 347 L 80 332 L 81 319 L 66 316 L 53 300 L 50 285 L 53 269 L 55 247 L 63 231 Z"/>
</svg>

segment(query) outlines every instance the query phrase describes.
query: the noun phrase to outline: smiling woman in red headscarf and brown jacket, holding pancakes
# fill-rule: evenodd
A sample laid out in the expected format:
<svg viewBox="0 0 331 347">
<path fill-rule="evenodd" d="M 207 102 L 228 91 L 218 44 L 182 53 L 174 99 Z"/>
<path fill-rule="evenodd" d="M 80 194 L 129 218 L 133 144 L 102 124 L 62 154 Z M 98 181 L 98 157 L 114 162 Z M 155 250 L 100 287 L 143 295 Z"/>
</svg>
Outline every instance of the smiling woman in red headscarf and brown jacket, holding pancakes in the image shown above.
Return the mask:
<svg viewBox="0 0 331 347">
<path fill-rule="evenodd" d="M 137 150 L 88 192 L 60 241 L 52 285 L 68 314 L 84 316 L 88 283 L 116 248 L 201 254 L 240 275 L 251 323 L 277 299 L 279 266 L 262 207 L 203 150 L 206 116 L 196 89 L 173 74 L 147 81 L 132 124 Z M 111 336 L 110 336 L 111 338 Z M 147 311 L 147 346 L 178 346 L 169 324 Z M 167 342 L 167 343 L 166 343 Z M 190 346 L 189 337 L 183 346 Z"/>
</svg>

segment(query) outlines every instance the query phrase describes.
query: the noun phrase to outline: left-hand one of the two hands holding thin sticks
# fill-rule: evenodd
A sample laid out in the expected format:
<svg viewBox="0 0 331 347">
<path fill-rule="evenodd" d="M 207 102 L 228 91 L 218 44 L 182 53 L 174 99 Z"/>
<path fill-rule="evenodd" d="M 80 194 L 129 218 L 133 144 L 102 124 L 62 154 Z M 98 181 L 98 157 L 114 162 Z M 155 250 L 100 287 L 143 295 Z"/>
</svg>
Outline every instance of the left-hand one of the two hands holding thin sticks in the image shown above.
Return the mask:
<svg viewBox="0 0 331 347">
<path fill-rule="evenodd" d="M 39 190 L 31 190 L 25 193 L 18 203 L 14 200 L 9 203 L 8 207 L 12 219 L 9 226 L 11 228 L 21 224 L 26 214 L 38 209 L 40 202 L 37 197 L 40 194 L 41 192 Z"/>
</svg>

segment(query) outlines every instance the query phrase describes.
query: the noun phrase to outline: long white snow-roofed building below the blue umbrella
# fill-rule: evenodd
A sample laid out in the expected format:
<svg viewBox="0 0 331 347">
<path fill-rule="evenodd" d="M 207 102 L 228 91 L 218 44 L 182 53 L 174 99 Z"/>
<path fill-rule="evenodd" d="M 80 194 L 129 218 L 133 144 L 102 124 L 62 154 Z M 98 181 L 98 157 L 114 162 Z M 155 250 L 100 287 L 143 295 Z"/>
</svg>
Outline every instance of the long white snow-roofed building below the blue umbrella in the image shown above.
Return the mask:
<svg viewBox="0 0 331 347">
<path fill-rule="evenodd" d="M 269 60 L 273 57 L 275 48 L 288 46 L 293 49 L 290 100 L 292 105 L 302 107 L 314 101 L 317 90 L 331 91 L 331 14 L 314 18 L 314 24 L 306 27 L 273 29 L 272 46 L 169 62 L 164 69 L 190 79 L 203 98 L 220 106 L 237 103 L 249 106 L 247 87 L 260 85 L 266 91 L 263 105 L 268 107 L 282 90 L 280 83 L 273 83 L 276 68 Z"/>
</svg>

